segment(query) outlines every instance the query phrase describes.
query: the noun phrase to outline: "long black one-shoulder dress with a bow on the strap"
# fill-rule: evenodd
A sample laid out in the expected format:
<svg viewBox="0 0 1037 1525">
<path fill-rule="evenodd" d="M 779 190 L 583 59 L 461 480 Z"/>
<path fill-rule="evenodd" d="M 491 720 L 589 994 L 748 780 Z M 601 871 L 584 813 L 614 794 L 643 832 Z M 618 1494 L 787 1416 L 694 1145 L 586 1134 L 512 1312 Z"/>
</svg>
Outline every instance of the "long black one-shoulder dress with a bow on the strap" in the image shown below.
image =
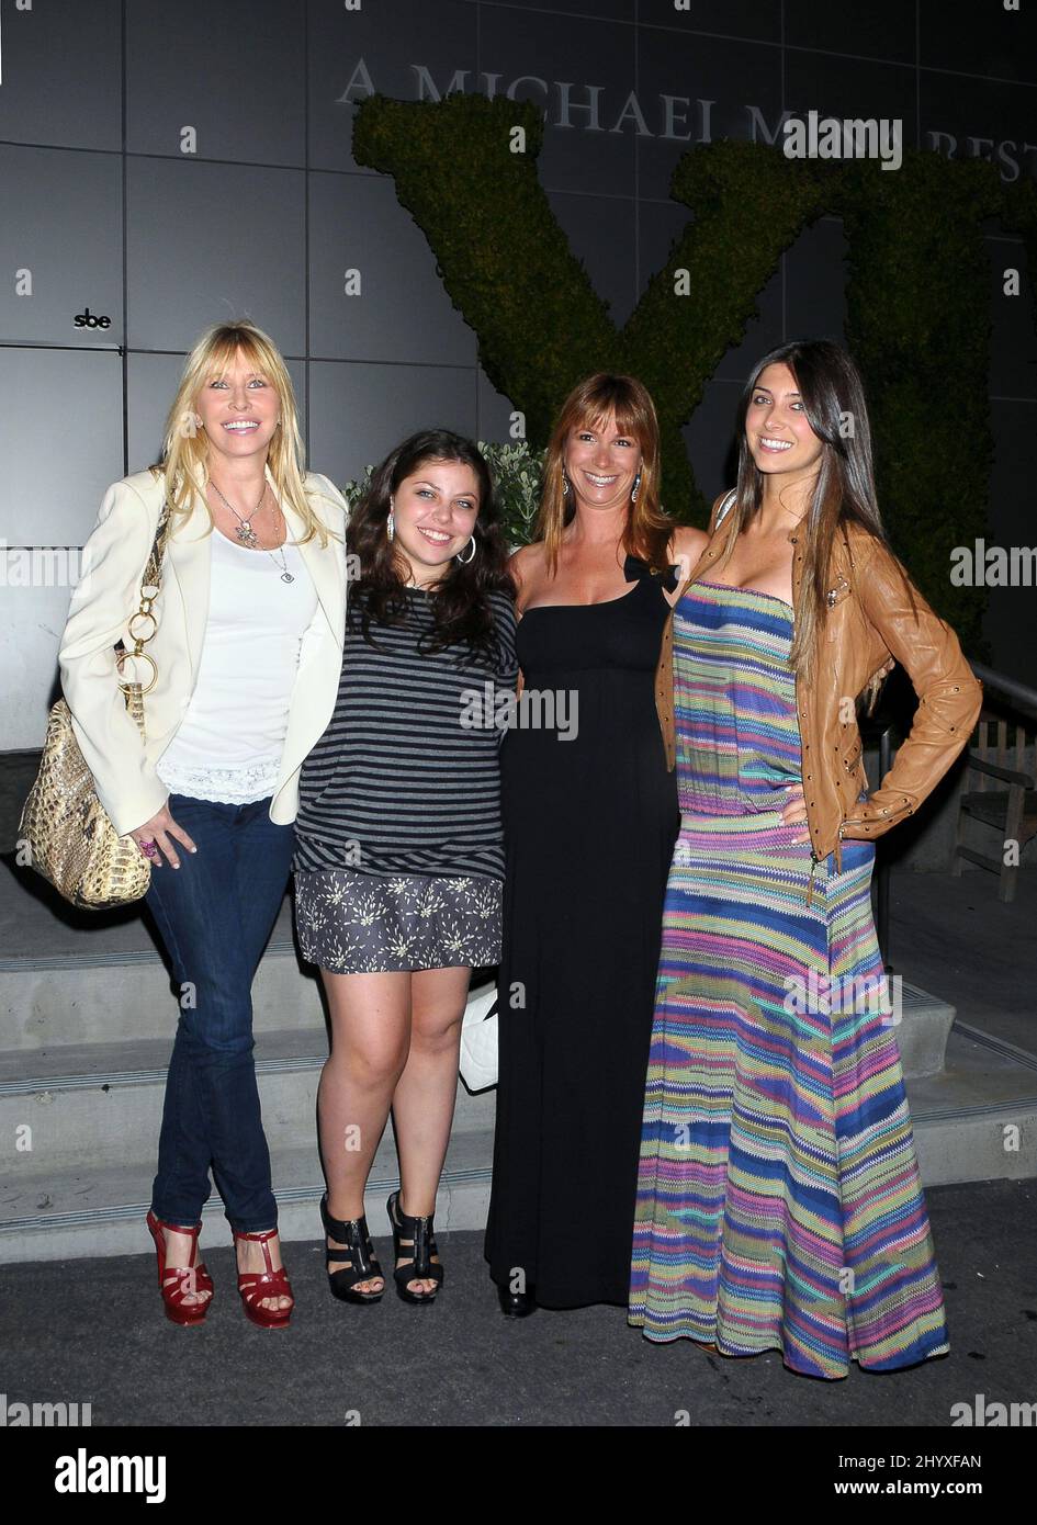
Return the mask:
<svg viewBox="0 0 1037 1525">
<path fill-rule="evenodd" d="M 654 697 L 669 605 L 647 563 L 627 557 L 624 576 L 634 586 L 616 599 L 525 613 L 523 698 L 500 753 L 500 1078 L 485 1254 L 499 1286 L 532 1286 L 558 1308 L 625 1307 L 630 1293 L 662 906 L 680 827 Z M 673 572 L 663 581 L 673 587 Z M 544 691 L 575 694 L 572 740 L 523 726 Z"/>
</svg>

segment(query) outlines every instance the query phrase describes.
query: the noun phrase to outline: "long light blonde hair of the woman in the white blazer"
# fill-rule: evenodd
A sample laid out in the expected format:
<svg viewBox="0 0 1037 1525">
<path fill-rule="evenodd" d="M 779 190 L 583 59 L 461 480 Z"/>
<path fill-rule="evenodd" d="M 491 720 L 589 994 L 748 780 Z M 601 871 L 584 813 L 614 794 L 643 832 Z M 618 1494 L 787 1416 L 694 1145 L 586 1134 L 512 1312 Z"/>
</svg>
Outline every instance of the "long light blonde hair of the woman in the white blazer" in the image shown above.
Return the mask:
<svg viewBox="0 0 1037 1525">
<path fill-rule="evenodd" d="M 258 371 L 274 387 L 281 403 L 281 424 L 273 433 L 267 453 L 267 465 L 282 502 L 287 502 L 307 526 L 302 544 L 317 537 L 328 544 L 328 526 L 314 512 L 303 486 L 305 448 L 299 433 L 296 393 L 288 368 L 281 351 L 268 334 L 264 334 L 249 319 L 233 323 L 212 323 L 201 334 L 188 355 L 180 377 L 177 395 L 166 415 L 162 459 L 151 471 L 165 476 L 166 497 L 171 503 L 172 528 L 191 514 L 195 500 L 201 499 L 209 515 L 209 529 L 215 528 L 212 509 L 204 497 L 204 482 L 209 474 L 209 441 L 204 429 L 195 425 L 195 400 L 203 386 L 223 375 L 241 351 L 246 364 Z"/>
</svg>

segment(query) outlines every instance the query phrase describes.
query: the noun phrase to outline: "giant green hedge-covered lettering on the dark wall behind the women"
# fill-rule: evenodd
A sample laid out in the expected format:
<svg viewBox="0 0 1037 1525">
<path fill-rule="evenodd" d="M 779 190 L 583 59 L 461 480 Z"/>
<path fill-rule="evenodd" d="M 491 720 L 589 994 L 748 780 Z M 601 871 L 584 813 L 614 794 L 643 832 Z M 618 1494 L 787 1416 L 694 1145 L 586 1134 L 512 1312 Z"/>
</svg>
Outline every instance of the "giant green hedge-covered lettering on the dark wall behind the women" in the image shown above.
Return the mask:
<svg viewBox="0 0 1037 1525">
<path fill-rule="evenodd" d="M 514 130 L 526 134 L 512 152 Z M 435 252 L 454 307 L 479 339 L 493 384 L 543 447 L 566 393 L 599 369 L 650 387 L 663 439 L 663 502 L 705 523 L 680 436 L 720 360 L 758 316 L 779 258 L 822 214 L 849 241 L 846 340 L 868 387 L 880 503 L 891 538 L 933 607 L 968 648 L 984 590 L 950 584 L 950 551 L 987 525 L 988 265 L 982 223 L 1002 217 L 1037 270 L 1037 195 L 1006 191 L 993 165 L 906 152 L 903 166 L 788 160 L 778 148 L 689 149 L 673 195 L 692 212 L 622 331 L 569 249 L 537 177 L 543 116 L 532 102 L 451 95 L 364 101 L 357 162 L 393 177 Z M 691 294 L 677 294 L 688 271 Z M 801 337 L 814 337 L 804 334 Z M 734 419 L 732 419 L 734 424 Z"/>
</svg>

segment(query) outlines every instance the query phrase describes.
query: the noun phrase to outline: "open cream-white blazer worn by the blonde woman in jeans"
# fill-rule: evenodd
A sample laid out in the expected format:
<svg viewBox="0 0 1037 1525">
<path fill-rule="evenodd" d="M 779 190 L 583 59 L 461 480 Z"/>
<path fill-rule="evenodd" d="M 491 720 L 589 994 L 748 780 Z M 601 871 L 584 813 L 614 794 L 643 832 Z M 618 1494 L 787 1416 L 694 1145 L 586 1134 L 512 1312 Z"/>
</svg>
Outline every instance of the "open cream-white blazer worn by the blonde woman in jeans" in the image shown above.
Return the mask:
<svg viewBox="0 0 1037 1525">
<path fill-rule="evenodd" d="M 267 480 L 276 493 L 270 467 Z M 334 711 L 346 622 L 348 505 L 334 483 L 316 471 L 307 473 L 305 490 L 314 512 L 337 538 L 323 547 L 316 538 L 299 546 L 317 590 L 317 610 L 302 637 L 281 773 L 270 802 L 270 819 L 282 825 L 296 819 L 299 769 Z M 159 628 L 145 647 L 156 660 L 159 680 L 143 702 L 146 741 L 142 741 L 117 688 L 114 645 L 122 639 L 133 650 L 128 622 L 140 602 L 140 578 L 162 499 L 163 479 L 151 471 L 136 471 L 107 490 L 82 551 L 81 578 L 58 653 L 76 741 L 101 804 L 120 834 L 142 827 L 168 799 L 156 764 L 188 712 L 209 613 L 212 535 L 204 505 L 195 500 L 189 518 L 166 540 L 162 592 L 154 605 Z M 279 502 L 288 538 L 299 540 L 305 532 L 302 520 L 288 503 Z M 130 666 L 128 679 L 134 676 Z M 136 676 L 146 686 L 148 663 L 139 663 Z"/>
</svg>

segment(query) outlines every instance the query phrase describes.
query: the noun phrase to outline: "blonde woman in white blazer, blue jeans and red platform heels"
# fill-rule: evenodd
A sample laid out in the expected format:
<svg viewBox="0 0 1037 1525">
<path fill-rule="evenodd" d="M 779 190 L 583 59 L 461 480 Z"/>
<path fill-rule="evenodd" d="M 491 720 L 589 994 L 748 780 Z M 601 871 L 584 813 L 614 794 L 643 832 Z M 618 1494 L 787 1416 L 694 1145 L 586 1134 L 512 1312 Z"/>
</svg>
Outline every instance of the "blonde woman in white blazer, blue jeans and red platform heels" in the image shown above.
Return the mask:
<svg viewBox="0 0 1037 1525">
<path fill-rule="evenodd" d="M 250 988 L 288 881 L 299 769 L 328 724 L 342 663 L 346 505 L 302 462 L 273 342 L 250 322 L 209 328 L 185 364 L 160 464 L 104 496 L 61 642 L 76 740 L 116 828 L 151 860 L 146 904 L 189 994 L 148 1212 L 174 1324 L 200 1324 L 212 1301 L 198 1260 L 210 1170 L 246 1315 L 273 1328 L 293 1308 Z M 131 647 L 166 502 L 142 741 L 116 688 L 114 644 Z M 136 676 L 146 683 L 151 668 Z"/>
</svg>

